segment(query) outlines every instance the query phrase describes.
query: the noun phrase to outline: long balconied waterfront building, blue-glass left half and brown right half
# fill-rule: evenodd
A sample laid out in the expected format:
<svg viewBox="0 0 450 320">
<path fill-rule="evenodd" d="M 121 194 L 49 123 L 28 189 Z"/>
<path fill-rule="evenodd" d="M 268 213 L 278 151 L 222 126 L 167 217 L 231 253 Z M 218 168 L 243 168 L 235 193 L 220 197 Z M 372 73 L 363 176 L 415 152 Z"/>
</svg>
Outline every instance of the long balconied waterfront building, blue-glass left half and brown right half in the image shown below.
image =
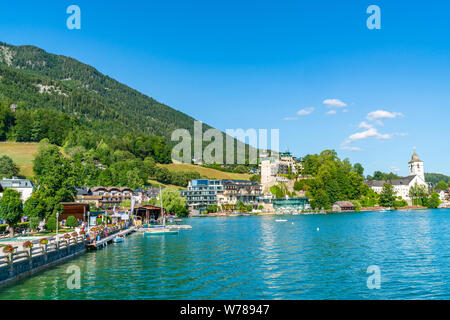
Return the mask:
<svg viewBox="0 0 450 320">
<path fill-rule="evenodd" d="M 236 205 L 239 201 L 256 207 L 262 196 L 261 190 L 261 185 L 254 181 L 195 179 L 181 191 L 181 196 L 186 198 L 191 211 L 207 209 L 211 205 Z"/>
</svg>

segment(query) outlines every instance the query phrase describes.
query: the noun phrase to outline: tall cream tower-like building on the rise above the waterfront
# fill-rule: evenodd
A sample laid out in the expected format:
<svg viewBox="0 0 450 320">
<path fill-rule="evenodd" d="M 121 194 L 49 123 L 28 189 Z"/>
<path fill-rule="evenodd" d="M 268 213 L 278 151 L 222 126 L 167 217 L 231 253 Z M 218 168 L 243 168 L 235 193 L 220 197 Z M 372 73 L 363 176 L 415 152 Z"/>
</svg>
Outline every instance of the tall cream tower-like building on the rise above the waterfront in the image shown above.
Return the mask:
<svg viewBox="0 0 450 320">
<path fill-rule="evenodd" d="M 261 184 L 265 193 L 270 187 L 280 182 L 288 183 L 287 175 L 297 175 L 301 172 L 302 165 L 290 152 L 284 152 L 279 157 L 261 156 L 260 172 Z"/>
</svg>

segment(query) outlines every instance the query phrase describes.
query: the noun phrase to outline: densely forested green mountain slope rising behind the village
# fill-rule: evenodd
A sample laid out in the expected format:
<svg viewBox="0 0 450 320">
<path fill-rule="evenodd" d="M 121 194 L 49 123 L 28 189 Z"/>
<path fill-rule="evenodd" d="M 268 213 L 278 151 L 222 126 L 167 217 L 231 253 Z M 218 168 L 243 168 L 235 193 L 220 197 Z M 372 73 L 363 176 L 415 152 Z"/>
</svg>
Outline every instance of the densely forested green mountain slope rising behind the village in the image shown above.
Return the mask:
<svg viewBox="0 0 450 320">
<path fill-rule="evenodd" d="M 0 43 L 0 98 L 19 109 L 62 111 L 110 134 L 131 131 L 168 141 L 174 129 L 192 132 L 194 124 L 192 117 L 91 66 L 34 46 Z"/>
</svg>

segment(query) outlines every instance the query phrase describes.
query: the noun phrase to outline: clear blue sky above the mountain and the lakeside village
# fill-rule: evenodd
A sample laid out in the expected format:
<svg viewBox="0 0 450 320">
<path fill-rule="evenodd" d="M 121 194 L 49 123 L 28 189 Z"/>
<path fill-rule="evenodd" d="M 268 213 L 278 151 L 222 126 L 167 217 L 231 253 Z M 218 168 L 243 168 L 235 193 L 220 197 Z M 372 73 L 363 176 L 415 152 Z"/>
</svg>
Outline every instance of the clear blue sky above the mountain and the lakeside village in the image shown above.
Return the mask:
<svg viewBox="0 0 450 320">
<path fill-rule="evenodd" d="M 450 175 L 448 2 L 242 2 L 14 1 L 0 41 L 74 57 L 221 130 L 280 129 L 296 156 L 335 149 L 366 174 L 406 175 L 416 147 L 426 172 Z M 66 28 L 71 4 L 81 30 Z"/>
</svg>

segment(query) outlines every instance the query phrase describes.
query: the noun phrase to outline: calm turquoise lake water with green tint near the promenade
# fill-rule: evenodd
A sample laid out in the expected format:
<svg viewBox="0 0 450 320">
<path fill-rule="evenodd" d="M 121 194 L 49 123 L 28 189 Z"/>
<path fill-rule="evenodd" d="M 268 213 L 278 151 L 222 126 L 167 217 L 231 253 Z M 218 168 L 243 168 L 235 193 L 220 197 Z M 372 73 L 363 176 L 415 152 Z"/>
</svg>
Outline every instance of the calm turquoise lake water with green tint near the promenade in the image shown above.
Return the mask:
<svg viewBox="0 0 450 320">
<path fill-rule="evenodd" d="M 185 222 L 0 287 L 0 299 L 450 299 L 450 210 Z M 67 288 L 72 265 L 80 289 Z"/>
</svg>

